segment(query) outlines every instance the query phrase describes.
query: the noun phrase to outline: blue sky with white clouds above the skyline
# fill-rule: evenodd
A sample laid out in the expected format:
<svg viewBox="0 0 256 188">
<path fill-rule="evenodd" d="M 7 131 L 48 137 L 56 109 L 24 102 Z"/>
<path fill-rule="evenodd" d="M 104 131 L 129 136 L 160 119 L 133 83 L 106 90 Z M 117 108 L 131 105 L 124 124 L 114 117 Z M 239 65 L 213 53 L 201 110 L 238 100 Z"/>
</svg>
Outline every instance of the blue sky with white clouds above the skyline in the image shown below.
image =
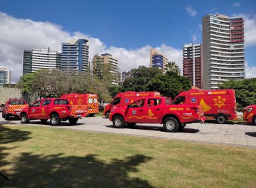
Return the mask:
<svg viewBox="0 0 256 188">
<path fill-rule="evenodd" d="M 95 53 L 118 58 L 120 71 L 150 65 L 150 49 L 165 54 L 182 69 L 182 47 L 202 44 L 202 17 L 244 19 L 246 78 L 256 77 L 256 1 L 208 0 L 0 0 L 0 67 L 11 82 L 22 76 L 23 51 L 51 49 L 89 40 Z"/>
</svg>

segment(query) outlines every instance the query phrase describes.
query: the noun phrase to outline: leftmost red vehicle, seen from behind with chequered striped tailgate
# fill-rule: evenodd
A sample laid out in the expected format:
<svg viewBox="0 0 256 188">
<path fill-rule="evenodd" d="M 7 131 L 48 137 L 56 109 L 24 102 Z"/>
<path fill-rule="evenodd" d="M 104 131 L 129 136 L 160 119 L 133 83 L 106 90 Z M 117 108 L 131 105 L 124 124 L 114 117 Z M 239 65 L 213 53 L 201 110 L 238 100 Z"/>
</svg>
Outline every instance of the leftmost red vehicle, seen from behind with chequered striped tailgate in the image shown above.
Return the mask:
<svg viewBox="0 0 256 188">
<path fill-rule="evenodd" d="M 28 104 L 24 99 L 9 99 L 3 106 L 2 117 L 6 120 L 11 116 L 19 117 L 20 110 L 26 106 Z"/>
</svg>

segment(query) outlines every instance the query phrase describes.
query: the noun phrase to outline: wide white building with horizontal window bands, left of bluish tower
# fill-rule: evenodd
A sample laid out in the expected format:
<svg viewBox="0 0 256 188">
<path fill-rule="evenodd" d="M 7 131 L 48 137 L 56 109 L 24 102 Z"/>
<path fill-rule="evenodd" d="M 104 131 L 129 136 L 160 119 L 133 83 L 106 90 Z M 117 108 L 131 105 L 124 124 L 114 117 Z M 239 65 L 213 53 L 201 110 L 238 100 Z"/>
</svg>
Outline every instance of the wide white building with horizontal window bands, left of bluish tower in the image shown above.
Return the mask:
<svg viewBox="0 0 256 188">
<path fill-rule="evenodd" d="M 23 51 L 23 75 L 40 69 L 61 69 L 61 53 L 50 49 Z"/>
</svg>

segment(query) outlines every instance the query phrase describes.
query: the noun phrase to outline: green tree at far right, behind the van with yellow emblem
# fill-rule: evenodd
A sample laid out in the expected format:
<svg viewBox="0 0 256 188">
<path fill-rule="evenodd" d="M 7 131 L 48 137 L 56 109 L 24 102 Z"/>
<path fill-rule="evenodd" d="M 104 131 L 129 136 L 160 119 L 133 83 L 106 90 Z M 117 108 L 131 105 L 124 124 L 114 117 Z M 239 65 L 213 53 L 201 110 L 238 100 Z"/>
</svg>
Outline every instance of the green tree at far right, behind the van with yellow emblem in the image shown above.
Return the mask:
<svg viewBox="0 0 256 188">
<path fill-rule="evenodd" d="M 234 89 L 237 101 L 237 110 L 242 111 L 247 105 L 256 104 L 256 78 L 244 80 L 229 80 L 219 84 L 220 89 Z"/>
</svg>

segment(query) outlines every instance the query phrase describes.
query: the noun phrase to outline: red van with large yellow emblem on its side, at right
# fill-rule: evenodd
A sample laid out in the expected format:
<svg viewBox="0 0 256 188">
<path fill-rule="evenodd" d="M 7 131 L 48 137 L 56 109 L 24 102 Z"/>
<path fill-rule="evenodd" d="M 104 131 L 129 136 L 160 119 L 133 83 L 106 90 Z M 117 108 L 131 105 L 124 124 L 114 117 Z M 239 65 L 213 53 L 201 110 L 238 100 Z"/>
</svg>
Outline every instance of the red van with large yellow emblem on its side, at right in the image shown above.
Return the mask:
<svg viewBox="0 0 256 188">
<path fill-rule="evenodd" d="M 180 92 L 173 100 L 173 104 L 202 105 L 207 120 L 226 123 L 227 120 L 237 120 L 237 103 L 234 94 L 234 89 L 190 89 Z"/>
</svg>

